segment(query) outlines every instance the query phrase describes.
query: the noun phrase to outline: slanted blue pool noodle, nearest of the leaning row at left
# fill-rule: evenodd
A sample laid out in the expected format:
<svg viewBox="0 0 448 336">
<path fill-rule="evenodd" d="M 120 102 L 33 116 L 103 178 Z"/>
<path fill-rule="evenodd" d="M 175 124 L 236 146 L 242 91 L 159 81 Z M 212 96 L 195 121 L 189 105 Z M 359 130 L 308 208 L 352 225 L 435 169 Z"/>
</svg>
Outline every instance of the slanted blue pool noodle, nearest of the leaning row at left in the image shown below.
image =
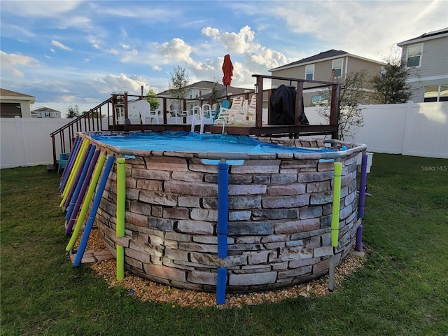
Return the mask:
<svg viewBox="0 0 448 336">
<path fill-rule="evenodd" d="M 99 181 L 97 193 L 95 194 L 92 204 L 92 209 L 90 209 L 89 218 L 87 218 L 87 223 L 85 223 L 83 237 L 81 238 L 78 251 L 76 252 L 75 260 L 73 260 L 73 265 L 76 267 L 80 265 L 81 260 L 83 259 L 85 247 L 87 246 L 87 241 L 89 240 L 90 231 L 92 230 L 95 216 L 97 216 L 99 203 L 101 202 L 104 187 L 106 186 L 106 182 L 109 177 L 109 173 L 111 172 L 114 160 L 115 157 L 113 156 L 109 156 L 109 158 L 107 158 L 106 167 L 104 167 L 103 176 L 101 177 L 101 181 Z"/>
</svg>

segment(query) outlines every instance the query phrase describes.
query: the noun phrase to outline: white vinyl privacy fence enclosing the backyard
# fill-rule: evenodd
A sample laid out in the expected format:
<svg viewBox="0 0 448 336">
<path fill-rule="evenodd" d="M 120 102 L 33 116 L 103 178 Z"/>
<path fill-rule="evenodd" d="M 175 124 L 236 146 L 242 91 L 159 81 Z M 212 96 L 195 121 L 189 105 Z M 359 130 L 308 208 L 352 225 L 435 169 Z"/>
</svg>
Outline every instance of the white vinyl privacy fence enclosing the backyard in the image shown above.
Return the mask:
<svg viewBox="0 0 448 336">
<path fill-rule="evenodd" d="M 448 102 L 365 105 L 364 126 L 350 141 L 368 151 L 448 158 Z M 306 108 L 311 124 L 324 123 Z M 50 133 L 71 119 L 0 119 L 0 168 L 52 165 Z M 57 158 L 60 150 L 57 148 Z"/>
</svg>

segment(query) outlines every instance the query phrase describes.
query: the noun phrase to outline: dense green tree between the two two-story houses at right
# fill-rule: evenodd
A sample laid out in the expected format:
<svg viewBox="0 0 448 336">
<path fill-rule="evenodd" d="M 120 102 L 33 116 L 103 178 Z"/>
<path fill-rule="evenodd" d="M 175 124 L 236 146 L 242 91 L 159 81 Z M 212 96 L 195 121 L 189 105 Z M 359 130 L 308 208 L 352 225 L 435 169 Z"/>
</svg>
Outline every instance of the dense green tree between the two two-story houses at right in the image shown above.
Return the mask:
<svg viewBox="0 0 448 336">
<path fill-rule="evenodd" d="M 409 70 L 399 58 L 389 58 L 381 73 L 370 80 L 374 93 L 372 97 L 379 104 L 400 104 L 407 102 L 413 93 L 412 85 L 407 83 Z"/>
</svg>

